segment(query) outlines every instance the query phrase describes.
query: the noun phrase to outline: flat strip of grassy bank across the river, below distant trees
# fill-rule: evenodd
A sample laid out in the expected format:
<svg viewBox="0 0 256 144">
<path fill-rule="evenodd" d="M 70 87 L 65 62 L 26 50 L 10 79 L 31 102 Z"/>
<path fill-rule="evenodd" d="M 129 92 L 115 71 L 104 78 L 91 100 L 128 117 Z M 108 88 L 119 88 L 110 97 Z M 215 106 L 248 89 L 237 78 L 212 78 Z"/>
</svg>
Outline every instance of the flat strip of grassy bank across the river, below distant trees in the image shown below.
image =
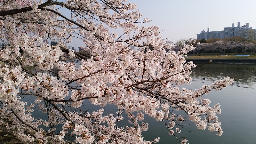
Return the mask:
<svg viewBox="0 0 256 144">
<path fill-rule="evenodd" d="M 250 55 L 234 57 L 234 55 Z M 188 59 L 256 59 L 256 52 L 187 54 Z"/>
</svg>

